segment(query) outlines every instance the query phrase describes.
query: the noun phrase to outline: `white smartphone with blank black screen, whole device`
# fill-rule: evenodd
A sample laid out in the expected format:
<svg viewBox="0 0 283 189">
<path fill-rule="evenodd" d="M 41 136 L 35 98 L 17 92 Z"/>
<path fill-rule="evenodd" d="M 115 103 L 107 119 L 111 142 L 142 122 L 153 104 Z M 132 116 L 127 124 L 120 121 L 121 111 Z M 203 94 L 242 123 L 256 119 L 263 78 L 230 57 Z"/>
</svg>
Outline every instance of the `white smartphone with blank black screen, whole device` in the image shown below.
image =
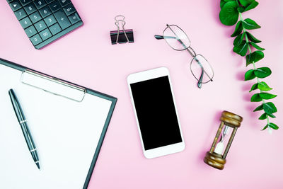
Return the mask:
<svg viewBox="0 0 283 189">
<path fill-rule="evenodd" d="M 151 159 L 185 149 L 166 67 L 127 77 L 144 156 Z"/>
</svg>

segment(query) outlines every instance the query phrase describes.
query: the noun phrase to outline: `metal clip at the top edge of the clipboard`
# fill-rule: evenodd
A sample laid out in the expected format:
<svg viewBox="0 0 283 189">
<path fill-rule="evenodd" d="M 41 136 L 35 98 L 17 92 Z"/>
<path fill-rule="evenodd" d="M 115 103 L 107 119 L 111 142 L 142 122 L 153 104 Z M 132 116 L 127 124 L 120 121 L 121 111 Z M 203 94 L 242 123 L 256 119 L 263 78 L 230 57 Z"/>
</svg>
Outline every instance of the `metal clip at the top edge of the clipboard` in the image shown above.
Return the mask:
<svg viewBox="0 0 283 189">
<path fill-rule="evenodd" d="M 76 102 L 83 101 L 86 95 L 86 88 L 30 69 L 22 72 L 21 82 Z"/>
</svg>

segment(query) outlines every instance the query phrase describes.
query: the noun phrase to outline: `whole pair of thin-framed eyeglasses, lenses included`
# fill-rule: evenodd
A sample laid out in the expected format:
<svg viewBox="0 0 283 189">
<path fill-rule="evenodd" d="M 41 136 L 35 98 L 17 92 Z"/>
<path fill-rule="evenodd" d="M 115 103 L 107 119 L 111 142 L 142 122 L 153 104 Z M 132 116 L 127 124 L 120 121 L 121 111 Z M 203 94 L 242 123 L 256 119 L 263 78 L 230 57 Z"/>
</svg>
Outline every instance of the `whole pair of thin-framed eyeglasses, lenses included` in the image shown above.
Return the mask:
<svg viewBox="0 0 283 189">
<path fill-rule="evenodd" d="M 187 50 L 192 56 L 190 62 L 190 71 L 192 75 L 197 79 L 197 86 L 202 88 L 202 84 L 206 84 L 212 81 L 214 76 L 214 71 L 212 66 L 209 64 L 207 59 L 202 55 L 197 55 L 195 50 L 190 47 L 190 39 L 187 34 L 178 27 L 178 25 L 168 25 L 163 31 L 163 35 L 154 35 L 156 40 L 164 39 L 173 50 Z"/>
</svg>

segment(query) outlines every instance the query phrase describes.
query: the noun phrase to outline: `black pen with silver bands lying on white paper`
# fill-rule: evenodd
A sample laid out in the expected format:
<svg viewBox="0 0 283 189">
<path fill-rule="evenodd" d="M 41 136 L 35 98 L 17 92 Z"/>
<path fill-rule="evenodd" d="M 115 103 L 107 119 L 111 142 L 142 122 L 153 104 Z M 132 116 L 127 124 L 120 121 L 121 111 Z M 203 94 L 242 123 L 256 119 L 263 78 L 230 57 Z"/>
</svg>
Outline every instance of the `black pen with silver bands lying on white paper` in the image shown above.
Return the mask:
<svg viewBox="0 0 283 189">
<path fill-rule="evenodd" d="M 11 98 L 13 110 L 15 110 L 16 116 L 18 118 L 18 122 L 21 125 L 23 136 L 25 137 L 25 142 L 28 144 L 28 149 L 30 150 L 30 154 L 31 156 L 33 156 L 33 161 L 35 161 L 36 166 L 40 169 L 40 160 L 38 159 L 35 142 L 33 142 L 33 137 L 31 136 L 30 130 L 28 129 L 27 120 L 25 120 L 25 115 L 23 115 L 23 110 L 21 108 L 21 105 L 18 102 L 18 98 L 14 93 L 13 89 L 10 89 L 8 91 L 8 94 Z"/>
</svg>

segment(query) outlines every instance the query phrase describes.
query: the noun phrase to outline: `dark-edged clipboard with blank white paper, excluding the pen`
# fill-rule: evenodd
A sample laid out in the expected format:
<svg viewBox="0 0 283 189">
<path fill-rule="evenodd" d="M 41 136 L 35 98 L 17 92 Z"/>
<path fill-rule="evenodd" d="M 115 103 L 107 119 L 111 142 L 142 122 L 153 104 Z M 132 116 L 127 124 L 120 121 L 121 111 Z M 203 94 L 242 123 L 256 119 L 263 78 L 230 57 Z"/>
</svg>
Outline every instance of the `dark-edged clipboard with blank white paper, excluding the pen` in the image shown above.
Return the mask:
<svg viewBox="0 0 283 189">
<path fill-rule="evenodd" d="M 41 171 L 8 100 L 10 87 L 28 120 Z M 116 102 L 0 58 L 0 188 L 87 188 Z"/>
</svg>

